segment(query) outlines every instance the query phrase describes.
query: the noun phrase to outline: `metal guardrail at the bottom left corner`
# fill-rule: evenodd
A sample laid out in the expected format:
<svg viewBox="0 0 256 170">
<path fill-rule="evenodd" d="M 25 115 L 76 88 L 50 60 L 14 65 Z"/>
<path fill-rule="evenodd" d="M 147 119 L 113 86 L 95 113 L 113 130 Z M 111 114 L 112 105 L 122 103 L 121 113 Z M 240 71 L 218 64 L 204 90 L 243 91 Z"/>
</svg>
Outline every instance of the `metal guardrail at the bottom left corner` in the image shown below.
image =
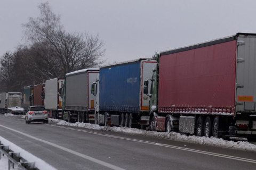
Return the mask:
<svg viewBox="0 0 256 170">
<path fill-rule="evenodd" d="M 6 155 L 6 157 L 8 158 L 9 170 L 10 170 L 11 164 L 12 164 L 12 168 L 14 168 L 14 165 L 16 165 L 21 170 L 38 169 L 38 168 L 35 168 L 35 162 L 28 162 L 26 159 L 20 156 L 20 152 L 14 152 L 9 148 L 9 146 L 2 145 L 0 141 L 0 159 L 2 154 L 3 156 Z"/>
</svg>

